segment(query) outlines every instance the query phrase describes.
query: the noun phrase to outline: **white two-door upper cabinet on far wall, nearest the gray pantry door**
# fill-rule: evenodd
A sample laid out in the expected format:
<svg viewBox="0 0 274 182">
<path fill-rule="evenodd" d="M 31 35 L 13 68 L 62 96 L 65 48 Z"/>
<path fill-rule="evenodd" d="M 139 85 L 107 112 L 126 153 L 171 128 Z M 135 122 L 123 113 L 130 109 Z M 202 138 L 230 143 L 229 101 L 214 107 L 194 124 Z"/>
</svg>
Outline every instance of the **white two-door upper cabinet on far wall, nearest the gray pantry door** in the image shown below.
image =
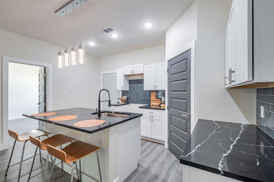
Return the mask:
<svg viewBox="0 0 274 182">
<path fill-rule="evenodd" d="M 144 90 L 165 90 L 165 63 L 144 65 Z"/>
</svg>

